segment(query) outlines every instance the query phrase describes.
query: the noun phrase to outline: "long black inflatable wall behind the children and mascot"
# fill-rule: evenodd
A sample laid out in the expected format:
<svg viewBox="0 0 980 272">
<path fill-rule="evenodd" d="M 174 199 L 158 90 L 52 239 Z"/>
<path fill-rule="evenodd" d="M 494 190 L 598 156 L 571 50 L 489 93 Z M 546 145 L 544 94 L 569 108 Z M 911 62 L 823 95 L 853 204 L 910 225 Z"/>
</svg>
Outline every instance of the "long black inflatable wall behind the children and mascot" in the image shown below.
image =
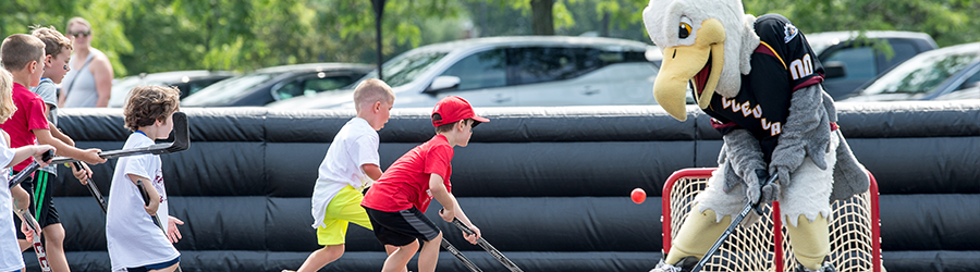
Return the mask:
<svg viewBox="0 0 980 272">
<path fill-rule="evenodd" d="M 318 248 L 310 227 L 317 168 L 353 111 L 184 109 L 191 149 L 162 156 L 171 212 L 184 220 L 184 271 L 295 269 Z M 429 109 L 395 109 L 380 131 L 381 164 L 434 132 Z M 838 104 L 840 125 L 881 190 L 889 271 L 980 268 L 980 102 Z M 714 166 L 721 136 L 688 109 L 486 108 L 492 121 L 456 148 L 453 193 L 483 237 L 525 271 L 648 271 L 660 258 L 659 191 L 678 169 Z M 64 109 L 79 147 L 119 149 L 121 111 Z M 108 194 L 115 160 L 94 166 Z M 650 195 L 635 205 L 628 194 Z M 73 271 L 109 271 L 105 215 L 60 169 L 56 206 Z M 111 199 L 111 196 L 109 196 Z M 434 201 L 433 201 L 434 202 Z M 483 271 L 505 271 L 452 225 L 429 217 Z M 370 231 L 352 226 L 347 252 L 323 271 L 378 271 L 385 257 Z M 24 255 L 37 270 L 34 254 Z M 414 270 L 415 262 L 409 264 Z M 442 271 L 465 271 L 450 255 Z"/>
</svg>

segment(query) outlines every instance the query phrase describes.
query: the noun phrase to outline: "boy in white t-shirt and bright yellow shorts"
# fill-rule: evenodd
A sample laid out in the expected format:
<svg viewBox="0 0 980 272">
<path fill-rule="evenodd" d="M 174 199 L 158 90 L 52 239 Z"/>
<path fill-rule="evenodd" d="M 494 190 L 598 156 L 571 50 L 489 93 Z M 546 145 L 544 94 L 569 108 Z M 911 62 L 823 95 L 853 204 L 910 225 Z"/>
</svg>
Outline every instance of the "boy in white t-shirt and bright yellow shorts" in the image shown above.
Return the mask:
<svg viewBox="0 0 980 272">
<path fill-rule="evenodd" d="M 314 186 L 313 227 L 323 248 L 310 254 L 297 271 L 317 271 L 339 259 L 344 254 L 348 223 L 372 230 L 360 207 L 362 191 L 381 177 L 378 131 L 388 123 L 394 98 L 391 87 L 379 79 L 364 81 L 354 89 L 357 116 L 347 121 L 330 143 Z"/>
</svg>

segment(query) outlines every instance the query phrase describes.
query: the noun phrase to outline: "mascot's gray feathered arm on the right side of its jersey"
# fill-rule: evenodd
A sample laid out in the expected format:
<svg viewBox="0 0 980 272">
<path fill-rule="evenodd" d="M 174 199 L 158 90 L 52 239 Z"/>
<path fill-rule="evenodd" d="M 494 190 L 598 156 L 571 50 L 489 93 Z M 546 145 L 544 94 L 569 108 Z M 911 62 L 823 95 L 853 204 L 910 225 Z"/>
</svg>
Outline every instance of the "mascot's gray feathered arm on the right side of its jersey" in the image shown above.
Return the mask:
<svg viewBox="0 0 980 272">
<path fill-rule="evenodd" d="M 825 101 L 820 84 L 793 92 L 789 116 L 782 126 L 769 163 L 769 172 L 779 173 L 783 186 L 789 185 L 789 173 L 799 168 L 805 156 L 809 156 L 818 168 L 826 169 L 824 154 L 830 151 L 831 136 L 828 107 L 833 107 L 833 101 Z"/>
</svg>

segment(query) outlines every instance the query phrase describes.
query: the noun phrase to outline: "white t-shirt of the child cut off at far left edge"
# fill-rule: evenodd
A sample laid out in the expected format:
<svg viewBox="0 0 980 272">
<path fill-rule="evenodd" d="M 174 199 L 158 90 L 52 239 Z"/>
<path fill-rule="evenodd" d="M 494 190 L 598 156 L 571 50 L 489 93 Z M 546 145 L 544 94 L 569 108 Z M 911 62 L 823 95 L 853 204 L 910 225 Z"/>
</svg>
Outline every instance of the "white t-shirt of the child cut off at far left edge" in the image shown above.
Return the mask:
<svg viewBox="0 0 980 272">
<path fill-rule="evenodd" d="M 17 230 L 13 224 L 13 198 L 10 196 L 10 161 L 14 151 L 3 136 L 0 135 L 0 271 L 15 271 L 24 268 L 24 257 L 17 246 Z"/>
</svg>

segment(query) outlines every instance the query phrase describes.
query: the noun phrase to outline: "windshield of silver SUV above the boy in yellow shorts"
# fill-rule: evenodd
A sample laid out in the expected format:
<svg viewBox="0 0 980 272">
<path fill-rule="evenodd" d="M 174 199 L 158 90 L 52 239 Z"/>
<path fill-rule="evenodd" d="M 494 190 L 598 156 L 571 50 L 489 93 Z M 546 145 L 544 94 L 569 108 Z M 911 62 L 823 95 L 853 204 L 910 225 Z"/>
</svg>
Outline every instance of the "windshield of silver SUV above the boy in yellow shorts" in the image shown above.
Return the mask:
<svg viewBox="0 0 980 272">
<path fill-rule="evenodd" d="M 448 53 L 449 52 L 422 51 L 385 62 L 383 66 L 384 82 L 391 87 L 399 87 L 412 83 L 416 77 L 421 75 L 421 73 L 429 70 L 429 66 L 432 66 L 432 64 L 442 60 Z M 365 75 L 364 78 L 360 78 L 360 81 L 357 81 L 350 86 L 357 86 L 357 84 L 367 78 L 378 78 L 378 71 L 372 71 Z"/>
</svg>

